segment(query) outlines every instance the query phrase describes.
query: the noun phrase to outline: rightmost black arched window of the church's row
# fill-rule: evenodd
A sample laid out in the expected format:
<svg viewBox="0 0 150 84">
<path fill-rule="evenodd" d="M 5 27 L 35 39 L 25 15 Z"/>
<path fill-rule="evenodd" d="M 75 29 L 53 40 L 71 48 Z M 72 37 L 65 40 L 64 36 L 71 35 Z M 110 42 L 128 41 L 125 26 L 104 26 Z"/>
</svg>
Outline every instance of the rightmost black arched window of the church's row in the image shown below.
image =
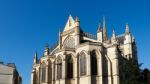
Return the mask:
<svg viewBox="0 0 150 84">
<path fill-rule="evenodd" d="M 91 52 L 91 75 L 97 75 L 97 57 L 95 50 Z"/>
</svg>

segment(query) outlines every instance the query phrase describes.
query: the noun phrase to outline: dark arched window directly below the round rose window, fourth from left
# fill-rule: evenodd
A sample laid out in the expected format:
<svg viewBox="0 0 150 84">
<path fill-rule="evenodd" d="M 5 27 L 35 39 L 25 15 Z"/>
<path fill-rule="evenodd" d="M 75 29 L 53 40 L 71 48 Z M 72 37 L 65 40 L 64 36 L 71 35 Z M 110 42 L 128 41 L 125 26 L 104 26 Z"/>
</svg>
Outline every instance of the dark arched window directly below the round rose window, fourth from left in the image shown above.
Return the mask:
<svg viewBox="0 0 150 84">
<path fill-rule="evenodd" d="M 73 58 L 67 55 L 67 78 L 73 78 Z"/>
</svg>

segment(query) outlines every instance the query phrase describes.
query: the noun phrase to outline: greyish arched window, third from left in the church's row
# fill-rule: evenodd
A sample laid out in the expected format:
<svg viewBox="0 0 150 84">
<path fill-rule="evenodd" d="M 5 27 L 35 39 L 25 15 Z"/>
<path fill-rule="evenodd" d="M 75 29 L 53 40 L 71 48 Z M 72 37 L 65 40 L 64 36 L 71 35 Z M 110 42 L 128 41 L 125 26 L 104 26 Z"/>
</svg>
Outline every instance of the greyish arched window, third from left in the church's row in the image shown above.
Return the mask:
<svg viewBox="0 0 150 84">
<path fill-rule="evenodd" d="M 56 60 L 56 66 L 57 66 L 57 79 L 62 78 L 62 59 L 61 57 L 58 57 Z"/>
</svg>

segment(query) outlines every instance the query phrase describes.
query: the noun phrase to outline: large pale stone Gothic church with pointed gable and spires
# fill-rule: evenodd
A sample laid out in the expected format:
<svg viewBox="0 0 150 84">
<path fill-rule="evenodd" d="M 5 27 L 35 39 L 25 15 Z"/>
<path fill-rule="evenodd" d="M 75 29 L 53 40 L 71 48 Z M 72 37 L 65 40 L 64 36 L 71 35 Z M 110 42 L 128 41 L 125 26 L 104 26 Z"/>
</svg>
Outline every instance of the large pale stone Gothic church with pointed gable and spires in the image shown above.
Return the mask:
<svg viewBox="0 0 150 84">
<path fill-rule="evenodd" d="M 72 16 L 53 48 L 45 47 L 42 58 L 34 56 L 31 84 L 119 84 L 124 60 L 137 61 L 135 39 L 126 24 L 125 33 L 107 37 L 103 18 L 97 35 L 85 33 L 79 18 Z"/>
</svg>

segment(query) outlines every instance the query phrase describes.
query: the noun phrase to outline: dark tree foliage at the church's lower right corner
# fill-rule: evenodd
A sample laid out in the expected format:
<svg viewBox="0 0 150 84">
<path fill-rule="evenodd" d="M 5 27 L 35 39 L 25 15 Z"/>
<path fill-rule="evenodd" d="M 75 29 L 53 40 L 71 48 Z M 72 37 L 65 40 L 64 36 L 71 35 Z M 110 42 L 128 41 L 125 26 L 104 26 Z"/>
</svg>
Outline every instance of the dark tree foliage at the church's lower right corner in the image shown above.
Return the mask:
<svg viewBox="0 0 150 84">
<path fill-rule="evenodd" d="M 150 84 L 150 70 L 140 69 L 142 64 L 129 60 L 125 63 L 123 70 L 124 79 L 120 84 Z"/>
</svg>

